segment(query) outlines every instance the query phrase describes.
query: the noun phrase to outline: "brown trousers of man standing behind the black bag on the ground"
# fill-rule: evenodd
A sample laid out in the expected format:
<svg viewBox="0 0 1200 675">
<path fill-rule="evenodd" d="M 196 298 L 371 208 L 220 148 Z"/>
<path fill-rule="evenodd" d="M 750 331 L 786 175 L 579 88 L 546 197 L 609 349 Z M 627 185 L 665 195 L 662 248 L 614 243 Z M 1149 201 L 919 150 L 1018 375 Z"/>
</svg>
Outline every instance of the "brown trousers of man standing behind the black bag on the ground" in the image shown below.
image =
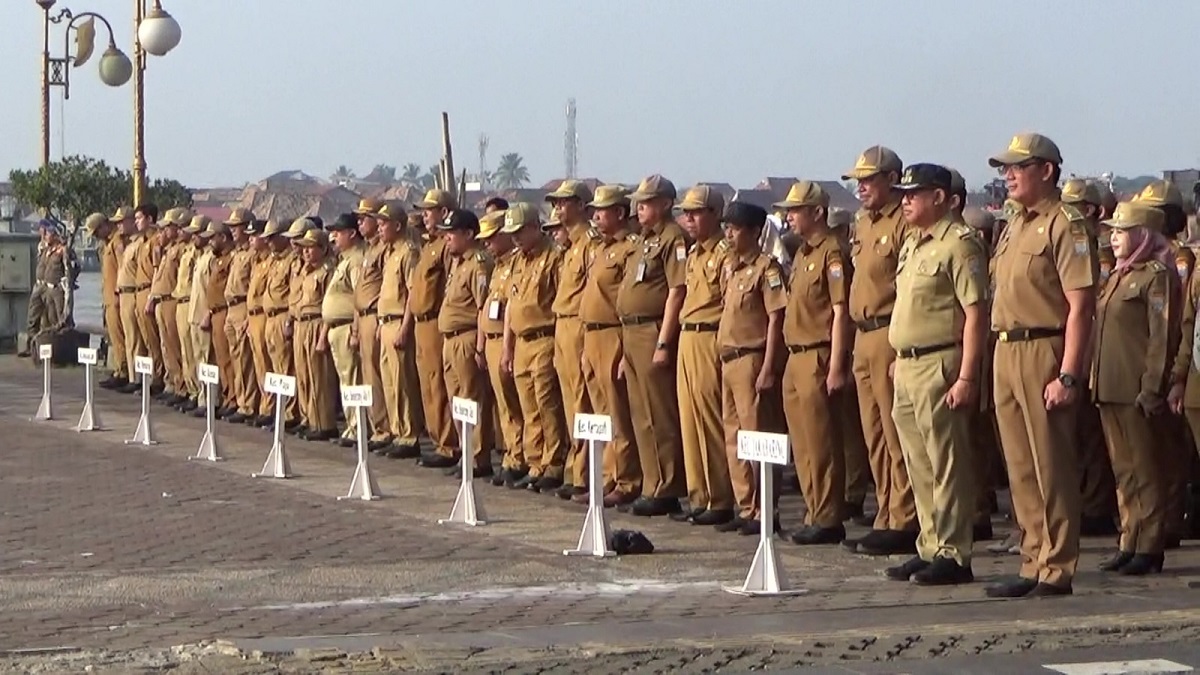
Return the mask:
<svg viewBox="0 0 1200 675">
<path fill-rule="evenodd" d="M 683 444 L 679 442 L 679 396 L 674 387 L 676 360 L 654 365 L 659 341 L 659 322 L 623 325 L 620 340 L 625 347 L 625 384 L 629 411 L 637 437 L 642 465 L 642 495 L 652 498 L 682 497 L 688 491 L 683 470 Z"/>
</svg>

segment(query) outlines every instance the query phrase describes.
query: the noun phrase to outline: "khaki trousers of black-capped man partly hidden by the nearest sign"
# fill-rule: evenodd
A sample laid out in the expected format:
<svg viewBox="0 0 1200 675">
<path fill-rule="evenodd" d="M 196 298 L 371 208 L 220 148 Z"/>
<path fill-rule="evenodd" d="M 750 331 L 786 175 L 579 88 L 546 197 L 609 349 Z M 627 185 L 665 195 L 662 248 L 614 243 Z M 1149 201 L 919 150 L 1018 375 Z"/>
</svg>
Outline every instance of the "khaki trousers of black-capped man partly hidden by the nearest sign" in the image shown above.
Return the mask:
<svg viewBox="0 0 1200 675">
<path fill-rule="evenodd" d="M 784 431 L 784 413 L 780 410 L 782 400 L 779 387 L 772 392 L 762 393 L 755 387 L 764 357 L 764 353 L 755 352 L 732 359 L 726 357 L 721 364 L 721 419 L 725 430 L 725 460 L 732 479 L 738 515 L 743 520 L 762 518 L 761 495 L 758 494 L 761 465 L 756 461 L 738 459 L 738 430 Z M 778 506 L 778 485 L 781 471 L 774 467 L 773 470 L 772 480 L 776 489 L 772 494 Z"/>
</svg>

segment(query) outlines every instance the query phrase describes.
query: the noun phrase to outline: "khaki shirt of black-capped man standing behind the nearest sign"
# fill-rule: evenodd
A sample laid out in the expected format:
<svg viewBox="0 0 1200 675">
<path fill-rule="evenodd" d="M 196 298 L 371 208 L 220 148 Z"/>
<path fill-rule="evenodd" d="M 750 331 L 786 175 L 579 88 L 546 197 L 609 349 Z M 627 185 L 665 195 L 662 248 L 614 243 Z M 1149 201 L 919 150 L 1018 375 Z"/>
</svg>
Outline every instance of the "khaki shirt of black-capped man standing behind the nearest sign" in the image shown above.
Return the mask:
<svg viewBox="0 0 1200 675">
<path fill-rule="evenodd" d="M 731 251 L 720 276 L 725 297 L 716 344 L 722 350 L 766 350 L 770 315 L 787 307 L 782 265 L 762 251 L 745 256 Z"/>
</svg>

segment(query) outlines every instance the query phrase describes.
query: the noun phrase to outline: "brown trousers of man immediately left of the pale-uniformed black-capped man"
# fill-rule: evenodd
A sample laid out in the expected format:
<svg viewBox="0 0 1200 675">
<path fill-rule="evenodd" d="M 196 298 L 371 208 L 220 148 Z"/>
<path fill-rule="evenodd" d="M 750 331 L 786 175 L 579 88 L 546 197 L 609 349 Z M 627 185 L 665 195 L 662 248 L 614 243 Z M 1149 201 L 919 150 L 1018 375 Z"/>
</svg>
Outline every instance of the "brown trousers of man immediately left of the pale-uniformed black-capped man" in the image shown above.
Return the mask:
<svg viewBox="0 0 1200 675">
<path fill-rule="evenodd" d="M 880 510 L 875 514 L 875 530 L 913 532 L 917 506 L 908 485 L 908 470 L 904 450 L 892 420 L 894 394 L 888 369 L 896 353 L 888 342 L 887 327 L 854 336 L 854 381 L 858 388 L 858 412 L 863 422 L 871 476 L 875 477 L 875 498 Z"/>
</svg>

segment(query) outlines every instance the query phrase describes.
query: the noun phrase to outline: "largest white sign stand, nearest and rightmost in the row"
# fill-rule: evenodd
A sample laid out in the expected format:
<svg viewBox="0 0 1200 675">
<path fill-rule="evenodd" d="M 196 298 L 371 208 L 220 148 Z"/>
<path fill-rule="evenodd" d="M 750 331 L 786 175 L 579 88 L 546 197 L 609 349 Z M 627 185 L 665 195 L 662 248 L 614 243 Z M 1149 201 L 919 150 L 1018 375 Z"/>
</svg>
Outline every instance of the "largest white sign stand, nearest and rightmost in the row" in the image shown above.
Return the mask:
<svg viewBox="0 0 1200 675">
<path fill-rule="evenodd" d="M 786 434 L 738 430 L 738 459 L 758 462 L 758 550 L 750 573 L 740 586 L 726 586 L 739 596 L 799 596 L 804 589 L 791 589 L 775 550 L 775 482 L 772 465 L 787 464 L 791 443 Z"/>
</svg>

